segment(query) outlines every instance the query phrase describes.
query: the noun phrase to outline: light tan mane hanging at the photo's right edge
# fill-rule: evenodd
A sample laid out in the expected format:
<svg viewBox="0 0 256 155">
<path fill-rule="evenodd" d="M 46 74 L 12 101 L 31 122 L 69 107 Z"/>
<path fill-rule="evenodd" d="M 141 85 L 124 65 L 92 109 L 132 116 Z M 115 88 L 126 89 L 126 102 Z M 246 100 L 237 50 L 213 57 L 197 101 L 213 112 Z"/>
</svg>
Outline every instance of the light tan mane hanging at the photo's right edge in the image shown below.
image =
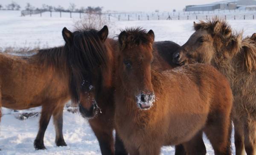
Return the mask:
<svg viewBox="0 0 256 155">
<path fill-rule="evenodd" d="M 242 40 L 241 55 L 247 72 L 256 69 L 256 42 L 249 37 Z"/>
</svg>

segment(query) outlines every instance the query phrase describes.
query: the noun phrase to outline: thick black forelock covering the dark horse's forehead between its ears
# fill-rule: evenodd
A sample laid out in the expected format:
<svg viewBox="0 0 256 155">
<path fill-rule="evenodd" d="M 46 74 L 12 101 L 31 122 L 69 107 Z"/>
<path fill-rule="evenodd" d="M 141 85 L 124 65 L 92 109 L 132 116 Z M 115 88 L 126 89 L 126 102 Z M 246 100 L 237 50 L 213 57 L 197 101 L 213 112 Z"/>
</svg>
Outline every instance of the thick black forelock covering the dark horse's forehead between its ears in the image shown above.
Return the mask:
<svg viewBox="0 0 256 155">
<path fill-rule="evenodd" d="M 93 71 L 96 66 L 106 66 L 106 47 L 97 32 L 95 29 L 73 32 L 73 48 L 72 52 L 68 53 L 72 67 Z"/>
</svg>

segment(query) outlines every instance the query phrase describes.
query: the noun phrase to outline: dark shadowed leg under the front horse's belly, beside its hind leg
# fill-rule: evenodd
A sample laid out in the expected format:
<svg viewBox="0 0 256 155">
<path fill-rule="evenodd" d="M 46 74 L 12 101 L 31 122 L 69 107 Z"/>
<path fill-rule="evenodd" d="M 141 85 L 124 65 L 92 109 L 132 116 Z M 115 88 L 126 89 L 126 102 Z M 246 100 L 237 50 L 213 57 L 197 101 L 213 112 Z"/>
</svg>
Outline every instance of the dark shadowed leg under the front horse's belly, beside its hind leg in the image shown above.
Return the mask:
<svg viewBox="0 0 256 155">
<path fill-rule="evenodd" d="M 186 155 L 206 155 L 202 131 L 198 132 L 190 141 L 184 143 L 183 146 L 186 150 Z"/>
</svg>

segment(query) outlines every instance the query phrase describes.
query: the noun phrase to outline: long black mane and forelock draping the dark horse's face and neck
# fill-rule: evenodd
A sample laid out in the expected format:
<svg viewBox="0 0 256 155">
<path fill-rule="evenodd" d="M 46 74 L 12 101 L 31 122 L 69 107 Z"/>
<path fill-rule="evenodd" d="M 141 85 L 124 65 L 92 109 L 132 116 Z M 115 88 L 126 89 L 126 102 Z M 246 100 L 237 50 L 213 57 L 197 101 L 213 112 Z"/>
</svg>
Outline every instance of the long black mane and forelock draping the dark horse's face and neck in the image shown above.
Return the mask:
<svg viewBox="0 0 256 155">
<path fill-rule="evenodd" d="M 73 44 L 65 44 L 68 49 L 69 64 L 72 69 L 70 92 L 72 101 L 78 103 L 81 83 L 91 79 L 96 68 L 106 68 L 107 47 L 95 29 L 80 29 L 73 32 Z M 88 81 L 87 81 L 88 82 Z"/>
</svg>

